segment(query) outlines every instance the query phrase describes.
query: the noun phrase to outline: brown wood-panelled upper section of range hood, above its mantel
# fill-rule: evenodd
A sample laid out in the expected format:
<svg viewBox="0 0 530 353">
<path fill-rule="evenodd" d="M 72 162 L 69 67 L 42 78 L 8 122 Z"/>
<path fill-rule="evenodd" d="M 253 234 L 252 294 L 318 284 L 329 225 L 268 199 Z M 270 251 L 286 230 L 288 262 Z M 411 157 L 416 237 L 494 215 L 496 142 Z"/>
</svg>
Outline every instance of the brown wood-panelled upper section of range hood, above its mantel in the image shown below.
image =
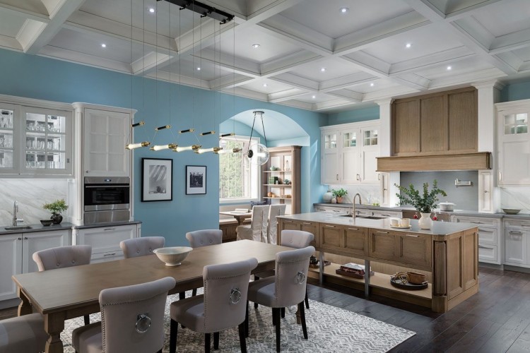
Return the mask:
<svg viewBox="0 0 530 353">
<path fill-rule="evenodd" d="M 392 104 L 393 155 L 476 152 L 477 104 L 475 88 L 394 101 Z"/>
</svg>

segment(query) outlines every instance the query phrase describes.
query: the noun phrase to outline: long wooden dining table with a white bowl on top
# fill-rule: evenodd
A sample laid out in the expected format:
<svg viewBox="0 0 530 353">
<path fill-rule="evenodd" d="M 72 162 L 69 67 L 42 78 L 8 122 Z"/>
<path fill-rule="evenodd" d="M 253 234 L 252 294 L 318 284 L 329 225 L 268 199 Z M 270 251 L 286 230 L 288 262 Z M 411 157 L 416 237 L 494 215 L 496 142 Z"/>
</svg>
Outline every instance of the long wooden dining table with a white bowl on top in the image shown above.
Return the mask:
<svg viewBox="0 0 530 353">
<path fill-rule="evenodd" d="M 177 284 L 169 294 L 203 286 L 205 265 L 230 263 L 246 258 L 257 258 L 252 273 L 274 268 L 276 253 L 292 250 L 287 246 L 252 240 L 232 241 L 204 246 L 191 251 L 182 264 L 168 267 L 155 255 L 90 265 L 59 268 L 36 273 L 13 275 L 18 286 L 18 315 L 37 311 L 45 319 L 47 353 L 63 352 L 61 331 L 64 321 L 100 311 L 99 295 L 102 289 L 137 285 L 163 277 L 173 277 Z"/>
</svg>

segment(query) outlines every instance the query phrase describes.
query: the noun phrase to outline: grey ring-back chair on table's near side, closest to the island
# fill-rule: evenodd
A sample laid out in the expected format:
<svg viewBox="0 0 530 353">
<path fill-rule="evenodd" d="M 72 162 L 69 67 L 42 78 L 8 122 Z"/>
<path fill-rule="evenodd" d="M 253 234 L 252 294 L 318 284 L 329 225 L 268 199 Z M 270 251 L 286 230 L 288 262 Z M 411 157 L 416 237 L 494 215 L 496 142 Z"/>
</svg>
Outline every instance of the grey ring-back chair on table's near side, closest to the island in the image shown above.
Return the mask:
<svg viewBox="0 0 530 353">
<path fill-rule="evenodd" d="M 276 253 L 276 275 L 249 283 L 248 300 L 272 308 L 273 324 L 276 326 L 276 352 L 280 352 L 281 309 L 298 304 L 302 333 L 307 340 L 304 297 L 307 285 L 307 270 L 314 247 Z M 248 326 L 248 315 L 245 320 Z M 248 333 L 248 328 L 246 329 Z"/>
</svg>

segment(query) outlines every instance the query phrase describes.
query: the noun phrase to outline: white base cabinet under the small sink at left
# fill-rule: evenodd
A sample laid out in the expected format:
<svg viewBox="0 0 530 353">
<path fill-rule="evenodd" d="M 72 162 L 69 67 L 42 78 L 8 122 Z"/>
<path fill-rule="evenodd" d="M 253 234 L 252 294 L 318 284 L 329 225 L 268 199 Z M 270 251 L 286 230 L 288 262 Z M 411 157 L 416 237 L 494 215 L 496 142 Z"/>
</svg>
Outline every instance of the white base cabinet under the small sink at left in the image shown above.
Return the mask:
<svg viewBox="0 0 530 353">
<path fill-rule="evenodd" d="M 38 271 L 35 251 L 70 245 L 71 231 L 62 229 L 2 235 L 0 237 L 0 301 L 16 298 L 12 275 Z"/>
</svg>

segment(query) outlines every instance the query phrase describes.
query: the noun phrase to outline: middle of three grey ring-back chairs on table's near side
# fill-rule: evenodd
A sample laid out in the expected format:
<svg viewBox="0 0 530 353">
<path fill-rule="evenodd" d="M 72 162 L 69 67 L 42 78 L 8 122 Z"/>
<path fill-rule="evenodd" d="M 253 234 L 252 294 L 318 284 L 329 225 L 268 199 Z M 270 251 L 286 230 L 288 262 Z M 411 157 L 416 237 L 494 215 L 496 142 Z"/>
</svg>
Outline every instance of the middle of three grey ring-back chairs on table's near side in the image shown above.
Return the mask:
<svg viewBox="0 0 530 353">
<path fill-rule="evenodd" d="M 204 294 L 175 301 L 170 307 L 170 353 L 177 349 L 178 324 L 204 333 L 204 352 L 219 348 L 219 332 L 239 327 L 241 352 L 247 352 L 245 317 L 250 272 L 258 261 L 249 258 L 234 263 L 207 265 L 203 269 Z"/>
</svg>

